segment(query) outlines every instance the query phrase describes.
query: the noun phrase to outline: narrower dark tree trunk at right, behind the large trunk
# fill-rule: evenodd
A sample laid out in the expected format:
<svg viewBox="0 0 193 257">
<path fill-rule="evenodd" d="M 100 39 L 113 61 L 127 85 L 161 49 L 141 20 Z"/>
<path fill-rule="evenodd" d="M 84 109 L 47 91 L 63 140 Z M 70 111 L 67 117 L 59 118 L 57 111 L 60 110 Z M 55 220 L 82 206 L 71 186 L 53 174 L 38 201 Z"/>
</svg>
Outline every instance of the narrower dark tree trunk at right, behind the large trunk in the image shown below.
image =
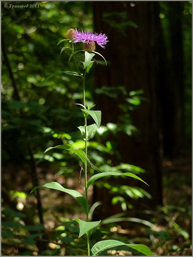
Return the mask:
<svg viewBox="0 0 193 257">
<path fill-rule="evenodd" d="M 168 66 L 168 83 L 163 85 L 163 139 L 164 154 L 177 156 L 183 138 L 184 121 L 184 71 L 182 45 L 182 1 L 168 1 L 170 65 Z"/>
</svg>

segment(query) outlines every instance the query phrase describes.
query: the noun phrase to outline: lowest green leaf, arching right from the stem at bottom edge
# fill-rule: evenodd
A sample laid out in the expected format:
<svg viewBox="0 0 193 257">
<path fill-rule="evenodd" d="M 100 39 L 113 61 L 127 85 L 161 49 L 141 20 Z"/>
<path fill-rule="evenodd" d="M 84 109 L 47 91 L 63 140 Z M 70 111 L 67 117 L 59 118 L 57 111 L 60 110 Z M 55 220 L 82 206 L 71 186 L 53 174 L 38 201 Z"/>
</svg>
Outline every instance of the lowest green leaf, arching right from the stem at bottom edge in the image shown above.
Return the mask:
<svg viewBox="0 0 193 257">
<path fill-rule="evenodd" d="M 125 244 L 117 240 L 104 240 L 104 241 L 97 242 L 91 249 L 91 254 L 92 256 L 98 256 L 98 254 L 100 254 L 102 251 L 106 249 L 109 249 L 115 246 L 122 246 L 122 245 L 129 246 L 139 252 L 142 252 L 147 256 L 153 256 L 150 249 L 144 244 Z"/>
</svg>

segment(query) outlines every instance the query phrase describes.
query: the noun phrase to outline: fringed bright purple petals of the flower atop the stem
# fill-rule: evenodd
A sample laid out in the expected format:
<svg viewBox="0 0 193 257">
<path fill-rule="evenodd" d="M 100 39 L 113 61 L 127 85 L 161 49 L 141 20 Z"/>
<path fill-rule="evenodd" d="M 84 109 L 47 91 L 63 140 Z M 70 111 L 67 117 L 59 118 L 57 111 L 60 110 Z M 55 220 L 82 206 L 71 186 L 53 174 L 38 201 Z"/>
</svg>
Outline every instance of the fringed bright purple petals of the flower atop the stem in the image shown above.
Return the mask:
<svg viewBox="0 0 193 257">
<path fill-rule="evenodd" d="M 98 45 L 100 45 L 102 48 L 104 48 L 103 45 L 106 45 L 106 42 L 108 42 L 108 38 L 106 37 L 105 34 L 100 33 L 99 35 L 95 32 L 89 32 L 87 31 L 83 31 L 80 32 L 77 29 L 75 29 L 75 33 L 74 33 L 74 39 L 75 39 L 75 43 L 83 41 L 83 43 L 91 44 L 94 41 L 97 42 Z"/>
</svg>

